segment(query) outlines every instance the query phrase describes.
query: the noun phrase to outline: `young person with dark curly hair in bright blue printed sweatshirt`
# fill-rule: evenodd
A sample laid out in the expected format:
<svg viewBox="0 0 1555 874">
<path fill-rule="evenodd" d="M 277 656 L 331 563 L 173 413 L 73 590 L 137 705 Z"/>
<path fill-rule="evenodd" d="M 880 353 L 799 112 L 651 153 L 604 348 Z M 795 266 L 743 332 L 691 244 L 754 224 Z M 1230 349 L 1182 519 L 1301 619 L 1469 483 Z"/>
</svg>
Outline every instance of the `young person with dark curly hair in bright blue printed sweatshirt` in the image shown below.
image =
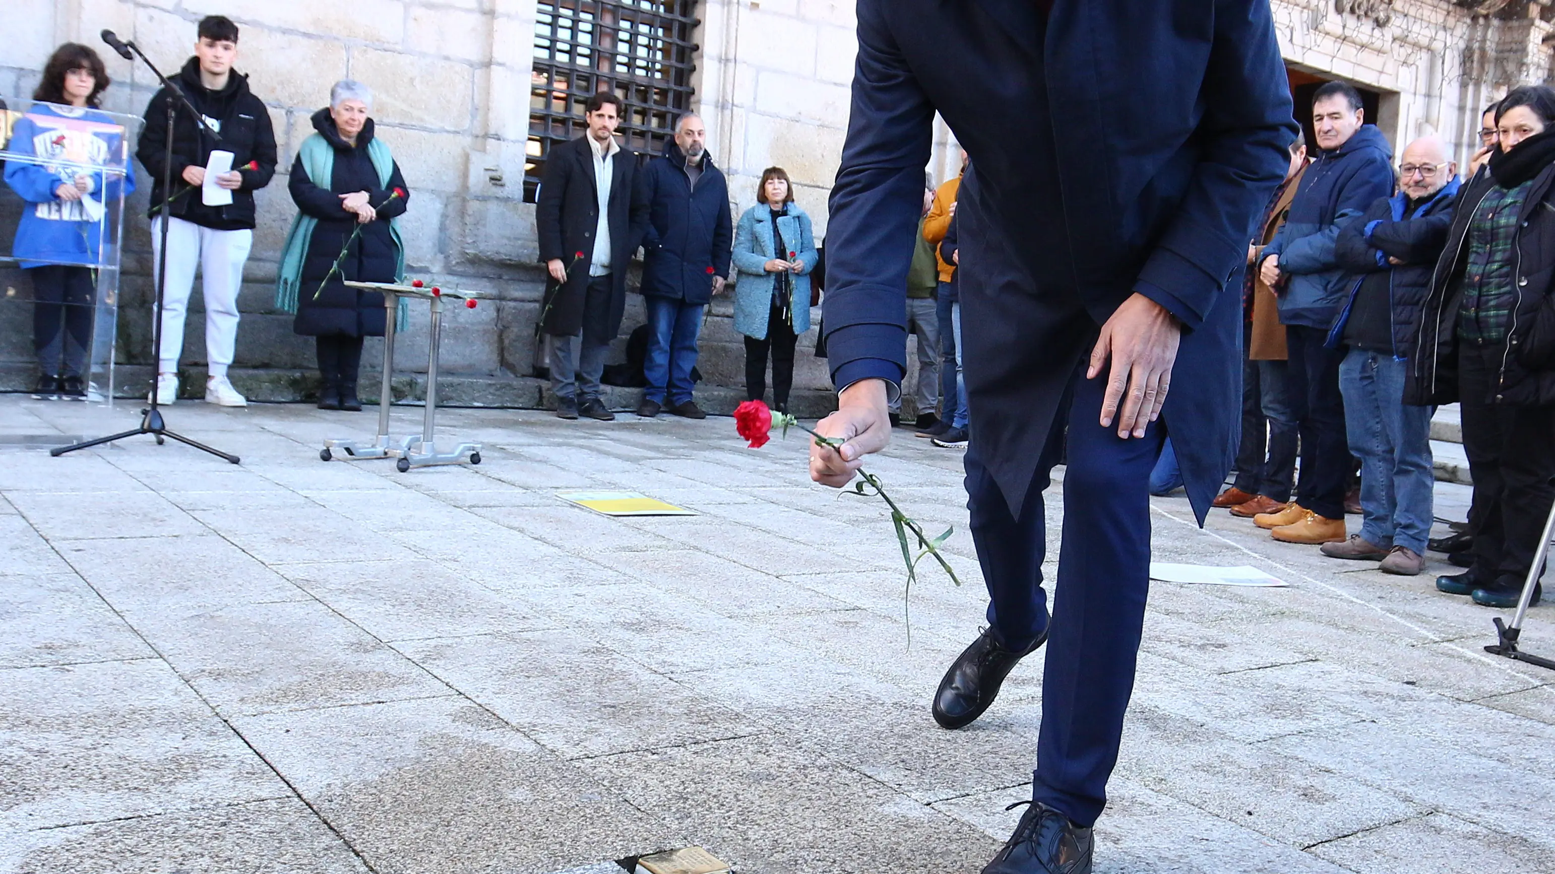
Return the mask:
<svg viewBox="0 0 1555 874">
<path fill-rule="evenodd" d="M 42 162 L 6 162 L 5 182 L 26 201 L 11 253 L 33 277 L 36 398 L 86 398 L 87 350 L 96 303 L 107 204 L 135 190 L 124 131 L 96 109 L 109 78 L 92 48 L 67 42 L 44 67 L 33 107 L 11 131 L 8 151 Z M 101 166 L 124 166 L 124 176 Z"/>
</svg>

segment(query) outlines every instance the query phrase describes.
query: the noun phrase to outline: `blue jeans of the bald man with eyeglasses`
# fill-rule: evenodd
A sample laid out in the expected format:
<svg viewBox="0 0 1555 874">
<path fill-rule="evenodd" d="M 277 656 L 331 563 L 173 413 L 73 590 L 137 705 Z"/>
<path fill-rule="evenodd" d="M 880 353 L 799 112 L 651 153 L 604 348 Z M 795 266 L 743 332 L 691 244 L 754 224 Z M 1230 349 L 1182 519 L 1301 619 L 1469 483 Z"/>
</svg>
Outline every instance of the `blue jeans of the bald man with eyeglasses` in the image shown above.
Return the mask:
<svg viewBox="0 0 1555 874">
<path fill-rule="evenodd" d="M 1424 554 L 1431 537 L 1431 407 L 1404 403 L 1407 361 L 1351 348 L 1339 364 L 1350 453 L 1361 459 L 1361 537 Z"/>
</svg>

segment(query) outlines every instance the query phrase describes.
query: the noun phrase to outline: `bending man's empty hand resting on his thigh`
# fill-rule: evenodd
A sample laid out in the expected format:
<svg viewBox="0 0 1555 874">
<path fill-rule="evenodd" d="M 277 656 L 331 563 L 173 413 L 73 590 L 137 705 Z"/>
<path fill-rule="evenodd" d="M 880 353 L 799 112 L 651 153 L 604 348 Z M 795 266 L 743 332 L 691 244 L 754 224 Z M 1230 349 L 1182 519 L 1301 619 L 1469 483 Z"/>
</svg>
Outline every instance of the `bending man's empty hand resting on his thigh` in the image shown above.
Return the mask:
<svg viewBox="0 0 1555 874">
<path fill-rule="evenodd" d="M 1090 351 L 1087 379 L 1095 379 L 1107 359 L 1107 393 L 1101 401 L 1101 426 L 1118 421 L 1118 437 L 1144 437 L 1144 426 L 1160 417 L 1171 387 L 1182 327 L 1177 317 L 1143 294 L 1134 294 L 1101 327 Z M 1121 404 L 1121 412 L 1120 412 Z"/>
</svg>

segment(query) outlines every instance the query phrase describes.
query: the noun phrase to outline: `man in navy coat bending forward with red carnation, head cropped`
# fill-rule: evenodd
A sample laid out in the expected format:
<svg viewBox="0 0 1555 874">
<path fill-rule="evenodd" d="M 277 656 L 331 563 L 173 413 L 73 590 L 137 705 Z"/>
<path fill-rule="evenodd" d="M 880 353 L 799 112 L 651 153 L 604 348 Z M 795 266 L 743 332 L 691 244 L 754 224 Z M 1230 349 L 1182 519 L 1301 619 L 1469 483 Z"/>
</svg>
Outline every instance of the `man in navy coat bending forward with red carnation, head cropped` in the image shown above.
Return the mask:
<svg viewBox="0 0 1555 874">
<path fill-rule="evenodd" d="M 1048 642 L 1034 802 L 984 872 L 1088 872 L 1144 617 L 1146 482 L 1169 429 L 1202 523 L 1230 468 L 1241 272 L 1297 128 L 1267 0 L 858 0 L 827 239 L 841 392 L 821 423 L 846 443 L 810 453 L 827 485 L 889 435 L 936 110 L 972 156 L 956 208 L 966 482 L 991 603 L 935 717 L 972 722 Z M 1065 423 L 1050 622 L 1042 490 Z"/>
</svg>

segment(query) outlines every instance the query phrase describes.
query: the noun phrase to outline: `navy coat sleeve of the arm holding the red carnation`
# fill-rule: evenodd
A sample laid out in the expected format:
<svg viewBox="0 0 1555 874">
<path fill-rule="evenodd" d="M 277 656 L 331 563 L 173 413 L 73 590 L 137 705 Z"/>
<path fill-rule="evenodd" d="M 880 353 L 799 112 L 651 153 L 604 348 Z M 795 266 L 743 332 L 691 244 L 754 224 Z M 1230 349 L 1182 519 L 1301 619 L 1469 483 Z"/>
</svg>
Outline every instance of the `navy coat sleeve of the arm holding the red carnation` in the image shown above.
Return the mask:
<svg viewBox="0 0 1555 874">
<path fill-rule="evenodd" d="M 852 112 L 826 232 L 826 347 L 838 389 L 907 373 L 907 269 L 933 151 L 935 107 L 882 2 L 858 3 Z"/>
</svg>

